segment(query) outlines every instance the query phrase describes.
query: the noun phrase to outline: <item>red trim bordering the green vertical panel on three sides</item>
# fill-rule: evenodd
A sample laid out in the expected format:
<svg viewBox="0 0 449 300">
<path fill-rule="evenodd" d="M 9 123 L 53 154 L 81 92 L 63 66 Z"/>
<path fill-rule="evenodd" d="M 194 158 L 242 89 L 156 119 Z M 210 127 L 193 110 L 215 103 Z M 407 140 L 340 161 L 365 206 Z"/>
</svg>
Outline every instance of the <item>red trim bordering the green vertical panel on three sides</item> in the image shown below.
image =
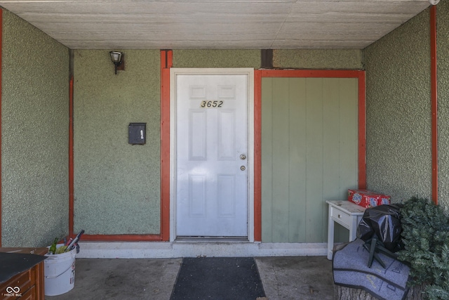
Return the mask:
<svg viewBox="0 0 449 300">
<path fill-rule="evenodd" d="M 256 70 L 254 73 L 254 237 L 262 240 L 262 78 L 324 77 L 358 79 L 358 188 L 366 188 L 365 71 L 358 70 Z"/>
</svg>

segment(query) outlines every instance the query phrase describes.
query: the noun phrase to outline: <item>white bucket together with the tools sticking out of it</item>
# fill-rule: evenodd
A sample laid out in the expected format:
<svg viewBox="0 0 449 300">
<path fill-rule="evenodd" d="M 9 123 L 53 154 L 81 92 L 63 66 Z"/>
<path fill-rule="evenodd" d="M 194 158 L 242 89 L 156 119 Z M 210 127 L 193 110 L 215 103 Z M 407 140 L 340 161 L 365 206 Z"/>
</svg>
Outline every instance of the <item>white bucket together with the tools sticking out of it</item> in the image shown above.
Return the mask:
<svg viewBox="0 0 449 300">
<path fill-rule="evenodd" d="M 48 247 L 44 261 L 45 294 L 57 296 L 69 292 L 75 285 L 75 256 L 79 251 L 78 241 L 84 230 L 66 243 L 57 244 L 58 238 Z"/>
</svg>

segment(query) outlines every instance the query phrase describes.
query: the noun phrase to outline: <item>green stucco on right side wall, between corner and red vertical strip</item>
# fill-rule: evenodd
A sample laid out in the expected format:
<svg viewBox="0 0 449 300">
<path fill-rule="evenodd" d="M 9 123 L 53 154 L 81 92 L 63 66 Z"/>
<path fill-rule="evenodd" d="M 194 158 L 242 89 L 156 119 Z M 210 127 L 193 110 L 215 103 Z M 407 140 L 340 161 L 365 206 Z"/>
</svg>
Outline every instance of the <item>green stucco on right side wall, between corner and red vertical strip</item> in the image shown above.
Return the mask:
<svg viewBox="0 0 449 300">
<path fill-rule="evenodd" d="M 429 10 L 364 50 L 370 190 L 431 197 Z"/>
</svg>

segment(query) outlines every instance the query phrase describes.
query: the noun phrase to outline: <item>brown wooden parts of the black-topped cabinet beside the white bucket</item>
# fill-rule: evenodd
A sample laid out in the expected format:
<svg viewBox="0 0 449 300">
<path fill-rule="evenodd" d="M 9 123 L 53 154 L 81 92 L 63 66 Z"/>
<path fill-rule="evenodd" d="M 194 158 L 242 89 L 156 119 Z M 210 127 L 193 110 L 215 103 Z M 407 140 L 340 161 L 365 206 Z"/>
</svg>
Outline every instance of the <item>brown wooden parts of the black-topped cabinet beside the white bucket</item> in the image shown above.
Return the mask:
<svg viewBox="0 0 449 300">
<path fill-rule="evenodd" d="M 0 248 L 0 252 L 44 255 L 47 248 Z M 11 262 L 12 263 L 12 262 Z M 43 261 L 0 283 L 1 300 L 43 300 Z"/>
</svg>

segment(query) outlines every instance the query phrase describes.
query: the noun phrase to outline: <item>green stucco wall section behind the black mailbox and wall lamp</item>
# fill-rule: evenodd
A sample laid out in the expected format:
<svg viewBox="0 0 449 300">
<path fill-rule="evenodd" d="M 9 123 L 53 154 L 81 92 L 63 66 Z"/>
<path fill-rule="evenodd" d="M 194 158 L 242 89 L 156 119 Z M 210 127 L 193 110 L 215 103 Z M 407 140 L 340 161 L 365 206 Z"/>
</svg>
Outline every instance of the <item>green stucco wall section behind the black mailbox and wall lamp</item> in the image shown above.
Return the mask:
<svg viewBox="0 0 449 300">
<path fill-rule="evenodd" d="M 74 51 L 74 230 L 160 232 L 160 54 Z M 128 124 L 147 123 L 145 145 L 128 144 Z"/>
</svg>

